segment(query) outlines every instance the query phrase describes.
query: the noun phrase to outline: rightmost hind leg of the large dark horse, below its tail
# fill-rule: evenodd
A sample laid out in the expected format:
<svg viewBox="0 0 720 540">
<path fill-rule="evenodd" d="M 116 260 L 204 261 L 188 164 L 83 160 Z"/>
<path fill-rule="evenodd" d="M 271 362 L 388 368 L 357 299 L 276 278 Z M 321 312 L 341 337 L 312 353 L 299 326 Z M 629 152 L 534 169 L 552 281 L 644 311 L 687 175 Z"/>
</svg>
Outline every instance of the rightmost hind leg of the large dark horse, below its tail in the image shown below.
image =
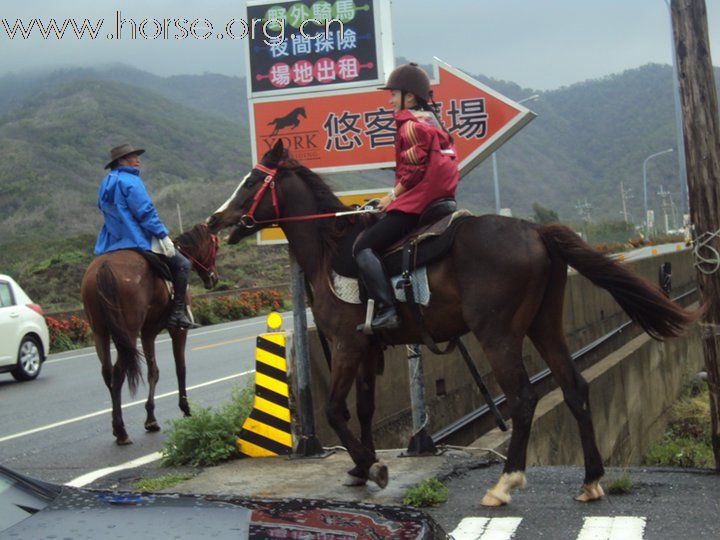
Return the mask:
<svg viewBox="0 0 720 540">
<path fill-rule="evenodd" d="M 559 303 L 556 303 L 558 305 Z M 587 381 L 578 371 L 570 356 L 565 336 L 562 332 L 562 318 L 548 308 L 541 309 L 529 336 L 540 355 L 547 363 L 553 377 L 560 385 L 565 404 L 572 412 L 580 430 L 585 461 L 585 480 L 581 493 L 576 500 L 588 502 L 600 499 L 603 489 L 600 485 L 605 470 L 602 457 L 595 440 Z M 560 307 L 561 304 L 560 304 Z"/>
</svg>

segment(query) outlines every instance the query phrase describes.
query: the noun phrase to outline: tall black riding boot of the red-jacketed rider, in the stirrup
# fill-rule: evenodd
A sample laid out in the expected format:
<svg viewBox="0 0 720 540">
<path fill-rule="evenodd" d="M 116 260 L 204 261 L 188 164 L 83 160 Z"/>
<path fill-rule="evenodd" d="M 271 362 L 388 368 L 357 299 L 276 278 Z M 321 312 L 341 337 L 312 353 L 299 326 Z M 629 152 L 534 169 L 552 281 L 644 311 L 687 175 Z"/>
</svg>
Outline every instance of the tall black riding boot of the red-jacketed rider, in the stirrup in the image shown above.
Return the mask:
<svg viewBox="0 0 720 540">
<path fill-rule="evenodd" d="M 363 249 L 355 255 L 355 262 L 368 296 L 375 300 L 372 329 L 393 330 L 400 326 L 400 317 L 395 309 L 395 295 L 382 261 L 372 249 Z"/>
</svg>

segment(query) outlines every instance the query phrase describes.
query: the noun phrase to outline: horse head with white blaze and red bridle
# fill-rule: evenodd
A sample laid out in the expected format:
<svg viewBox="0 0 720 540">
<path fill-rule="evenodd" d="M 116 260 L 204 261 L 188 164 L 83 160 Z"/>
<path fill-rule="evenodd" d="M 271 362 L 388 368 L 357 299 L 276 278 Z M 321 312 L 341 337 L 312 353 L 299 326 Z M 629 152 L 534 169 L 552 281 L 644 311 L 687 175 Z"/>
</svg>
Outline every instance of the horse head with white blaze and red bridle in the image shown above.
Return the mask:
<svg viewBox="0 0 720 540">
<path fill-rule="evenodd" d="M 278 139 L 245 175 L 230 198 L 207 219 L 209 230 L 216 233 L 227 227 L 235 227 L 228 243 L 236 244 L 268 224 L 261 222 L 271 222 L 273 218 L 279 217 L 275 176 L 287 157 L 282 140 Z"/>
</svg>

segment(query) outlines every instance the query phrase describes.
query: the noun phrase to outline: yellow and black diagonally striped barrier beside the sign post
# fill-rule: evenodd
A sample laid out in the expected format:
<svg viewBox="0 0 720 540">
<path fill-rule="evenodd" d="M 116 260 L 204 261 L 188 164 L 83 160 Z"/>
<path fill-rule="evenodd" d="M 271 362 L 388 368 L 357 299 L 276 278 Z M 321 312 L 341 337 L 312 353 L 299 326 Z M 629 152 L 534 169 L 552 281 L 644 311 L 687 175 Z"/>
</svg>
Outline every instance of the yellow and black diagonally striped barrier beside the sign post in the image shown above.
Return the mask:
<svg viewBox="0 0 720 540">
<path fill-rule="evenodd" d="M 275 318 L 273 318 L 273 315 Z M 279 328 L 279 315 L 271 313 L 268 326 Z M 292 453 L 290 403 L 285 356 L 285 333 L 260 334 L 255 346 L 255 399 L 235 441 L 248 457 L 285 456 Z"/>
</svg>

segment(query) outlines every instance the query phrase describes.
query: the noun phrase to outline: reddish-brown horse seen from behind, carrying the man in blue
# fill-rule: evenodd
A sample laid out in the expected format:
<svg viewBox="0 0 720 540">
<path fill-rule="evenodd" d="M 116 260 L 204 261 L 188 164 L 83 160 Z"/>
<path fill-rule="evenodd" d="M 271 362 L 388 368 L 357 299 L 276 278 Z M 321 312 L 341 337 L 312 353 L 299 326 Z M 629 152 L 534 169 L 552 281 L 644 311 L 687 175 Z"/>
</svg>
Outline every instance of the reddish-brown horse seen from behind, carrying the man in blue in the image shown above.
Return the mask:
<svg viewBox="0 0 720 540">
<path fill-rule="evenodd" d="M 217 284 L 215 254 L 217 237 L 207 225 L 195 225 L 181 234 L 175 245 L 192 263 L 206 289 Z M 148 369 L 148 399 L 145 403 L 145 429 L 159 431 L 155 419 L 155 386 L 160 372 L 155 360 L 155 337 L 170 314 L 170 293 L 162 278 L 150 268 L 145 257 L 132 250 L 105 253 L 95 258 L 83 276 L 81 294 L 85 314 L 92 327 L 102 376 L 112 399 L 113 435 L 119 445 L 131 444 L 122 419 L 121 390 L 125 378 L 134 395 L 140 372 L 137 338 L 142 340 Z M 187 330 L 169 330 L 172 338 L 175 371 L 178 378 L 180 409 L 190 416 L 185 390 L 185 341 Z M 110 356 L 110 339 L 118 351 L 115 365 Z"/>
</svg>

